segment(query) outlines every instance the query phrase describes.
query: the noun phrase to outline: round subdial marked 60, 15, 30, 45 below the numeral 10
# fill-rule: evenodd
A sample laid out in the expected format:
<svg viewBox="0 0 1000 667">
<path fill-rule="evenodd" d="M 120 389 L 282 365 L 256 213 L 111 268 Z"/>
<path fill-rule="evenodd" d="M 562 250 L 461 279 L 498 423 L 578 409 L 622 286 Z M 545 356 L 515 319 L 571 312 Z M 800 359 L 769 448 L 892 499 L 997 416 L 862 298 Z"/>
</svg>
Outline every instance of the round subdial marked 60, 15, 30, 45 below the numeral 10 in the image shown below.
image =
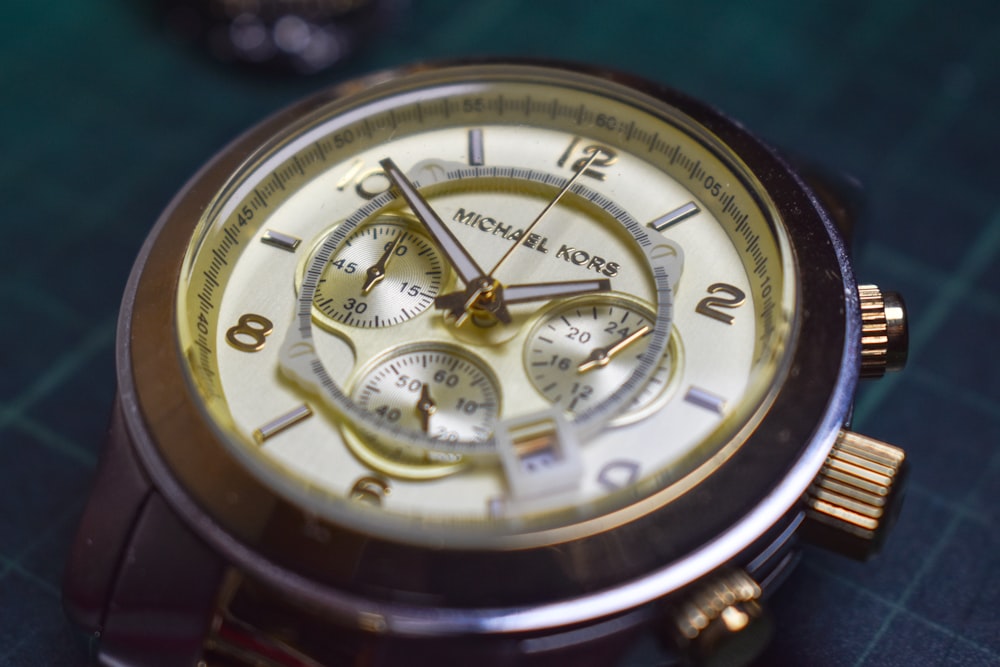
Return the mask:
<svg viewBox="0 0 1000 667">
<path fill-rule="evenodd" d="M 405 219 L 383 216 L 344 239 L 323 269 L 313 304 L 340 324 L 388 327 L 433 305 L 443 278 L 430 240 Z"/>
</svg>

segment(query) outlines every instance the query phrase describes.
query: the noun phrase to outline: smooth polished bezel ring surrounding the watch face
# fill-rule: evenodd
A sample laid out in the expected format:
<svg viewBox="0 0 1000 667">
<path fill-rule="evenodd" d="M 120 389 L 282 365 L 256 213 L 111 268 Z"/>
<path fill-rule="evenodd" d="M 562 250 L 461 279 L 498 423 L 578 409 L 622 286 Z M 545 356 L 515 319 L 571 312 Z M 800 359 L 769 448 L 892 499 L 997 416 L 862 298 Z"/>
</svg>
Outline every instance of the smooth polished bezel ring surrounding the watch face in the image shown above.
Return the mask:
<svg viewBox="0 0 1000 667">
<path fill-rule="evenodd" d="M 627 523 L 539 547 L 477 550 L 428 549 L 333 525 L 275 493 L 217 442 L 185 377 L 176 341 L 178 277 L 194 225 L 230 176 L 278 130 L 345 95 L 372 94 L 382 82 L 443 67 L 449 65 L 368 77 L 279 112 L 219 153 L 163 213 L 133 269 L 118 337 L 126 422 L 154 484 L 203 539 L 251 576 L 295 591 L 347 622 L 376 613 L 411 634 L 581 622 L 633 608 L 723 563 L 747 558 L 761 535 L 794 513 L 849 413 L 857 380 L 858 307 L 846 250 L 801 179 L 740 125 L 664 86 L 605 69 L 557 66 L 638 90 L 706 128 L 754 175 L 791 240 L 798 302 L 809 307 L 800 307 L 796 317 L 785 383 L 746 444 L 703 484 Z M 509 61 L 459 67 L 542 71 L 535 64 Z M 158 444 L 164 442 L 172 444 Z M 716 516 L 721 489 L 728 507 Z M 705 517 L 709 505 L 716 521 L 697 522 L 683 539 L 673 532 L 684 523 L 678 517 Z M 407 566 L 381 565 L 386 562 Z M 517 577 L 484 581 L 484 571 Z M 526 610 L 529 605 L 537 606 Z M 431 607 L 433 619 L 426 614 Z"/>
</svg>

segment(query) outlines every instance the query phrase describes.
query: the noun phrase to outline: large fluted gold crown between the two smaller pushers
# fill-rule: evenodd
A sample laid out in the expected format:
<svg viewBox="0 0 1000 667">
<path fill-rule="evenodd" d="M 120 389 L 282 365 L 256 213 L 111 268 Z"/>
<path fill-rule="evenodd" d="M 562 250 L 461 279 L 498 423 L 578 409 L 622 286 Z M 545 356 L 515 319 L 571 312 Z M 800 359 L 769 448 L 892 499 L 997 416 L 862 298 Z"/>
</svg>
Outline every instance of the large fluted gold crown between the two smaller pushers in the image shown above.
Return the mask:
<svg viewBox="0 0 1000 667">
<path fill-rule="evenodd" d="M 905 477 L 902 449 L 841 431 L 806 492 L 802 536 L 858 560 L 874 556 L 899 513 Z"/>
</svg>

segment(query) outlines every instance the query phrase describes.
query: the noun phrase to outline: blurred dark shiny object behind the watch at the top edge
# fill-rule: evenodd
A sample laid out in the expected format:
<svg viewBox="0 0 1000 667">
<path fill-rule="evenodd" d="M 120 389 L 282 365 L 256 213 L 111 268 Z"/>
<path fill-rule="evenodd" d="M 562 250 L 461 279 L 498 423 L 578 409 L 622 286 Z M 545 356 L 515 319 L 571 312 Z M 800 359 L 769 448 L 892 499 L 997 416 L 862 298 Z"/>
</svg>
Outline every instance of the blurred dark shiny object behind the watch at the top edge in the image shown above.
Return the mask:
<svg viewBox="0 0 1000 667">
<path fill-rule="evenodd" d="M 312 74 L 390 29 L 408 0 L 156 0 L 166 24 L 226 63 Z"/>
</svg>

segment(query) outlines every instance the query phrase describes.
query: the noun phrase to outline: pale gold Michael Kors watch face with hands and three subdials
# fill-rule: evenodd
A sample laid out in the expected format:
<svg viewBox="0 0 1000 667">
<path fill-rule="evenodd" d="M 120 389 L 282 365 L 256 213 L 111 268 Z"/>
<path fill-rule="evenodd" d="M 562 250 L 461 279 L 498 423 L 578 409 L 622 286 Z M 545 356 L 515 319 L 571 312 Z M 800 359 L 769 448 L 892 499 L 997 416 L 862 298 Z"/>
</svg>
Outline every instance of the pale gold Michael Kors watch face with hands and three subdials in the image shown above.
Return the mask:
<svg viewBox="0 0 1000 667">
<path fill-rule="evenodd" d="M 186 374 L 229 454 L 325 520 L 598 532 L 695 487 L 766 410 L 796 301 L 775 217 L 716 135 L 611 80 L 378 80 L 289 119 L 205 208 Z"/>
</svg>

